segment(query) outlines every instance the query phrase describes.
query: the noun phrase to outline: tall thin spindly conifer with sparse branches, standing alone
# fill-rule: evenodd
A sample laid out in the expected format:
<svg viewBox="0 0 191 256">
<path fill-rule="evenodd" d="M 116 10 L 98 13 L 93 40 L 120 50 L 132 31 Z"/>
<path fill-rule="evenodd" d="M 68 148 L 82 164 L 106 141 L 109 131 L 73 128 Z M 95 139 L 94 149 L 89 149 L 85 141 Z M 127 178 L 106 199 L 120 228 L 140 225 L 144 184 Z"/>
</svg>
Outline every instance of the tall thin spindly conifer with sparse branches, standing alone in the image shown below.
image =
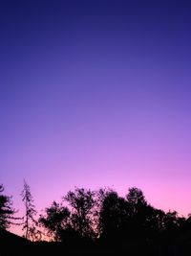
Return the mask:
<svg viewBox="0 0 191 256">
<path fill-rule="evenodd" d="M 24 188 L 21 192 L 22 201 L 25 204 L 25 216 L 23 221 L 23 230 L 25 232 L 25 238 L 34 240 L 36 237 L 36 233 L 39 233 L 36 230 L 37 221 L 34 220 L 34 216 L 36 215 L 35 206 L 33 204 L 33 198 L 30 186 L 27 184 L 26 180 L 24 180 Z"/>
</svg>

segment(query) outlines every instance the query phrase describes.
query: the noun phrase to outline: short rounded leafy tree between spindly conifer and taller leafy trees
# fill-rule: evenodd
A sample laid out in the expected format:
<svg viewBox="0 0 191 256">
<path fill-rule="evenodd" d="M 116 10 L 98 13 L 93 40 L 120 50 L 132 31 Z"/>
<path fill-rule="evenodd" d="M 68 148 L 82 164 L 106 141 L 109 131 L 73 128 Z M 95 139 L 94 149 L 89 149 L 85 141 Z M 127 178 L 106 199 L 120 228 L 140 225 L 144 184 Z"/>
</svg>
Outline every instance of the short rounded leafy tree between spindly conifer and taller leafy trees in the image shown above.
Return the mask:
<svg viewBox="0 0 191 256">
<path fill-rule="evenodd" d="M 63 231 L 69 228 L 69 209 L 53 201 L 45 212 L 45 216 L 40 216 L 39 223 L 48 230 L 48 235 L 53 236 L 55 241 L 62 240 Z"/>
</svg>

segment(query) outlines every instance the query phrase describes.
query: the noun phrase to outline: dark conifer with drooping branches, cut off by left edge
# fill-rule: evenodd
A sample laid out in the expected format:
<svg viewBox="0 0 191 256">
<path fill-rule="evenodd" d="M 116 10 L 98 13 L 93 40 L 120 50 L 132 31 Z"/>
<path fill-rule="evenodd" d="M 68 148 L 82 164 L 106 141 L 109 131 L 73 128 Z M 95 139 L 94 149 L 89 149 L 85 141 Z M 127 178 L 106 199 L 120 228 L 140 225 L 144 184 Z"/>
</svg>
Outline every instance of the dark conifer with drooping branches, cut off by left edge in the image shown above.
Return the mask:
<svg viewBox="0 0 191 256">
<path fill-rule="evenodd" d="M 20 220 L 20 218 L 13 217 L 16 211 L 12 208 L 11 197 L 1 195 L 3 191 L 3 185 L 0 185 L 0 227 L 7 229 L 11 224 L 15 224 L 12 221 Z"/>
</svg>

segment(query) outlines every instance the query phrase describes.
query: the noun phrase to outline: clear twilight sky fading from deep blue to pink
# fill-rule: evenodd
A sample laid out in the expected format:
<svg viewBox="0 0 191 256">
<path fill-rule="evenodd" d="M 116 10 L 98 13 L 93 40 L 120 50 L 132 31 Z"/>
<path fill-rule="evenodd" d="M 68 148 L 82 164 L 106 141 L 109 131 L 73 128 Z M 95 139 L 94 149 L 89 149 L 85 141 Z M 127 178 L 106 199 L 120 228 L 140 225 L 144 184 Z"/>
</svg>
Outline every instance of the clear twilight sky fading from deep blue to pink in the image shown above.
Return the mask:
<svg viewBox="0 0 191 256">
<path fill-rule="evenodd" d="M 76 187 L 191 212 L 191 3 L 0 1 L 0 183 L 22 214 Z"/>
</svg>

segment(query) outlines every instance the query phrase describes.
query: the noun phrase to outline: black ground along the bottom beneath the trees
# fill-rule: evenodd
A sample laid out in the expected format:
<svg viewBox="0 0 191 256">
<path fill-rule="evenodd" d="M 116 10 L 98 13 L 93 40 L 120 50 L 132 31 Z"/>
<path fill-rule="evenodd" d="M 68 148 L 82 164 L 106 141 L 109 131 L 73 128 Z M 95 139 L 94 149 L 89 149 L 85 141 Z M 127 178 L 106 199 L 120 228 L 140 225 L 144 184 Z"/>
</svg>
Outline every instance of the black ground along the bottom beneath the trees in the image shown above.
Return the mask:
<svg viewBox="0 0 191 256">
<path fill-rule="evenodd" d="M 174 239 L 129 240 L 125 244 L 29 242 L 4 230 L 0 232 L 1 256 L 11 255 L 190 255 L 191 232 Z"/>
</svg>

